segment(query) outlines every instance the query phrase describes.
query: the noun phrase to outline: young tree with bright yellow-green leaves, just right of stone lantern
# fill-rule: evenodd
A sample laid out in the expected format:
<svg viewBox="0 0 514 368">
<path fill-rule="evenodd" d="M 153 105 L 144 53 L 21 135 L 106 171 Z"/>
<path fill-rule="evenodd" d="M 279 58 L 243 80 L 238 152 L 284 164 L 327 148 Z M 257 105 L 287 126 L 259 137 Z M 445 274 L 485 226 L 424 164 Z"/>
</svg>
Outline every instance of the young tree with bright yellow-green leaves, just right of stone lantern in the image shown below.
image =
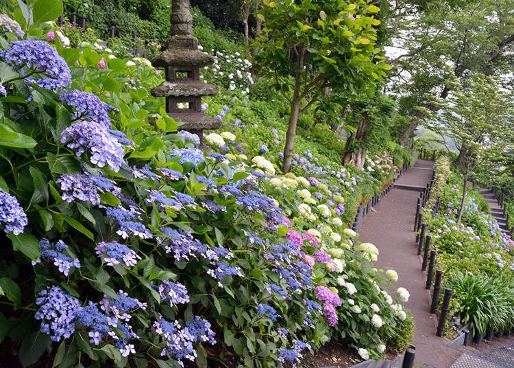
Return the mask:
<svg viewBox="0 0 514 368">
<path fill-rule="evenodd" d="M 283 172 L 291 170 L 293 141 L 301 113 L 330 87 L 347 95 L 372 95 L 385 77 L 380 49 L 375 47 L 374 14 L 369 0 L 265 0 L 258 12 L 263 21 L 254 56 L 256 71 L 272 73 L 276 89 L 291 106 L 284 146 Z"/>
</svg>

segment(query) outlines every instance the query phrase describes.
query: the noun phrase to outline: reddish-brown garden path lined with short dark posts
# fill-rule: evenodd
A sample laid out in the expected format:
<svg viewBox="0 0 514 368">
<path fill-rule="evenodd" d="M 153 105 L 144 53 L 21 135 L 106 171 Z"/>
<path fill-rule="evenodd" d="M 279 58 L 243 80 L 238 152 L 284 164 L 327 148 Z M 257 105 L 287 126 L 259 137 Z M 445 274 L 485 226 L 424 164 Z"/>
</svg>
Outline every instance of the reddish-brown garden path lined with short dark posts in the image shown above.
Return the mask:
<svg viewBox="0 0 514 368">
<path fill-rule="evenodd" d="M 417 160 L 396 182 L 395 188 L 374 207 L 360 227 L 361 242 L 371 242 L 380 255 L 375 266 L 398 273 L 397 286 L 411 293 L 404 306 L 411 310 L 416 347 L 415 367 L 448 368 L 461 352 L 448 347 L 450 340 L 437 337 L 437 318 L 430 314 L 430 292 L 425 289 L 426 273 L 413 231 L 419 189 L 432 179 L 433 161 Z"/>
</svg>

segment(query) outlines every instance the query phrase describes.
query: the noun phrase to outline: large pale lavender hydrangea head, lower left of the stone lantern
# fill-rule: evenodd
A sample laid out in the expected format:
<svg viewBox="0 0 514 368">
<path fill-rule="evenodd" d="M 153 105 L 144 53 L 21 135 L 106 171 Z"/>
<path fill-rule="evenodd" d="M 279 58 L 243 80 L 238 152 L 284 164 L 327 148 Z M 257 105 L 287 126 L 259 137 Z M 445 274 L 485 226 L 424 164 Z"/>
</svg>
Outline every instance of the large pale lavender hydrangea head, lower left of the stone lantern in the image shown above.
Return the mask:
<svg viewBox="0 0 514 368">
<path fill-rule="evenodd" d="M 90 161 L 100 168 L 108 165 L 111 170 L 119 171 L 126 166 L 123 159 L 123 146 L 113 137 L 109 130 L 97 122 L 80 120 L 61 133 L 61 142 L 68 148 L 77 150 L 77 156 L 84 152 L 90 154 Z"/>
</svg>

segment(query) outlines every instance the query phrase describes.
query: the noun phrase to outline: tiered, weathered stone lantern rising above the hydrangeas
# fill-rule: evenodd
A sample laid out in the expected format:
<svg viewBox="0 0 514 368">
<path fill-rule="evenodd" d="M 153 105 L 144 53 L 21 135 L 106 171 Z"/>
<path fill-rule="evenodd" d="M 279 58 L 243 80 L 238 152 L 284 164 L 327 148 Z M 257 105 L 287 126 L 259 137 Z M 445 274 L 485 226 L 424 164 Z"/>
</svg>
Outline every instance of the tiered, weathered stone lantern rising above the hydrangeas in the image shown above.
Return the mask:
<svg viewBox="0 0 514 368">
<path fill-rule="evenodd" d="M 204 129 L 217 129 L 221 122 L 201 111 L 201 97 L 218 93 L 218 87 L 200 82 L 199 68 L 211 65 L 215 58 L 198 49 L 193 36 L 193 17 L 188 0 L 173 0 L 170 34 L 166 49 L 151 64 L 164 68 L 166 81 L 151 90 L 151 95 L 166 97 L 166 112 L 180 129 L 195 133 L 203 143 Z"/>
</svg>

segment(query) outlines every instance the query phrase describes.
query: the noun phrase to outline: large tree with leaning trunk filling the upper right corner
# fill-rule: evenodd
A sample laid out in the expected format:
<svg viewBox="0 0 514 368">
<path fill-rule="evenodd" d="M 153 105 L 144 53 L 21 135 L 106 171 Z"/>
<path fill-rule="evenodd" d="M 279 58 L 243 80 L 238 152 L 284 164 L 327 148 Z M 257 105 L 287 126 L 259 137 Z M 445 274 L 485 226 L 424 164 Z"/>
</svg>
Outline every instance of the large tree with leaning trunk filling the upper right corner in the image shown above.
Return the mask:
<svg viewBox="0 0 514 368">
<path fill-rule="evenodd" d="M 397 54 L 390 88 L 401 95 L 400 111 L 411 116 L 400 143 L 406 143 L 426 115 L 437 111 L 426 95 L 448 97 L 454 76 L 467 71 L 501 75 L 512 69 L 514 2 L 511 0 L 394 1 Z M 399 50 L 399 51 L 398 51 Z"/>
</svg>

